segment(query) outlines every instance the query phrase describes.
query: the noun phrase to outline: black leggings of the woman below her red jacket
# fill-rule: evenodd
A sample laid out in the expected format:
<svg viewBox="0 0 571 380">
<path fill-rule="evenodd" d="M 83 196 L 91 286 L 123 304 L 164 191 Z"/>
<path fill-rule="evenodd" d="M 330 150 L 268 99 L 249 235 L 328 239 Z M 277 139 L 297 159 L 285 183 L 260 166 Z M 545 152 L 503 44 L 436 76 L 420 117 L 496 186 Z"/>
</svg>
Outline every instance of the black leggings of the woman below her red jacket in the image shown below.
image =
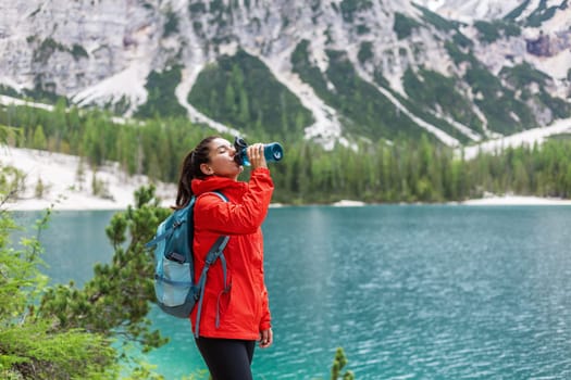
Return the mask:
<svg viewBox="0 0 571 380">
<path fill-rule="evenodd" d="M 256 341 L 200 337 L 196 345 L 212 380 L 252 380 L 250 365 Z"/>
</svg>

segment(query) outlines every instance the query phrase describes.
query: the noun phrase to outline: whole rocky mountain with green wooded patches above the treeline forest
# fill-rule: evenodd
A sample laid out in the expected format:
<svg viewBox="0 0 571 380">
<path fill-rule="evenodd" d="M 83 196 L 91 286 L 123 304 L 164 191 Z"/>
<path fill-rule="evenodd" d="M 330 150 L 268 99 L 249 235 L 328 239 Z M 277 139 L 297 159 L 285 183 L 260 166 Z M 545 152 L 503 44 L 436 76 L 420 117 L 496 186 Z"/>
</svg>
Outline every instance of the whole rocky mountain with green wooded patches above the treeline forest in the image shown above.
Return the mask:
<svg viewBox="0 0 571 380">
<path fill-rule="evenodd" d="M 0 92 L 219 130 L 458 147 L 571 116 L 569 0 L 3 2 Z"/>
</svg>

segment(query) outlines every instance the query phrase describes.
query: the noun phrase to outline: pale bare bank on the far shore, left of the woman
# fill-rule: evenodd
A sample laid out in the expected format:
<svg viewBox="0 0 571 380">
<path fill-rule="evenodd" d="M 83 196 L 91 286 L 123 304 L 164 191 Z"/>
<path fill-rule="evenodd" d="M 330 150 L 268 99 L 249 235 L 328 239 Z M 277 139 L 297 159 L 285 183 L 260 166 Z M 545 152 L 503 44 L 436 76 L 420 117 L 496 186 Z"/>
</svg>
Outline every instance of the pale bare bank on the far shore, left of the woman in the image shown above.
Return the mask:
<svg viewBox="0 0 571 380">
<path fill-rule="evenodd" d="M 141 175 L 129 176 L 117 163 L 92 169 L 78 156 L 13 147 L 0 152 L 0 162 L 24 176 L 18 199 L 3 204 L 9 211 L 38 211 L 50 206 L 61 211 L 126 210 L 135 204 L 135 191 L 151 183 L 162 200 L 161 205 L 169 207 L 176 197 L 174 183 Z"/>
</svg>

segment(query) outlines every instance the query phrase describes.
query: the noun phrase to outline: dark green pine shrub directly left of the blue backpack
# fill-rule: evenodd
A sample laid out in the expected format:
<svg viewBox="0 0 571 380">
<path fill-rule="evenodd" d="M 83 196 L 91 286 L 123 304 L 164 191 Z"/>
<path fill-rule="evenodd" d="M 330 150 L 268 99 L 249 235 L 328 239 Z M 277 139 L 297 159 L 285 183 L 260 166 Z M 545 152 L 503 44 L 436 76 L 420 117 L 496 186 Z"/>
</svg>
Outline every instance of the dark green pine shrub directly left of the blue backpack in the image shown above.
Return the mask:
<svg viewBox="0 0 571 380">
<path fill-rule="evenodd" d="M 112 262 L 97 264 L 84 289 L 73 283 L 49 288 L 39 315 L 54 316 L 63 329 L 86 329 L 104 337 L 139 343 L 144 352 L 166 342 L 150 331 L 147 314 L 154 301 L 152 256 L 144 245 L 169 211 L 158 206 L 154 189 L 135 193 L 136 205 L 113 215 L 107 236 L 114 249 Z"/>
</svg>

